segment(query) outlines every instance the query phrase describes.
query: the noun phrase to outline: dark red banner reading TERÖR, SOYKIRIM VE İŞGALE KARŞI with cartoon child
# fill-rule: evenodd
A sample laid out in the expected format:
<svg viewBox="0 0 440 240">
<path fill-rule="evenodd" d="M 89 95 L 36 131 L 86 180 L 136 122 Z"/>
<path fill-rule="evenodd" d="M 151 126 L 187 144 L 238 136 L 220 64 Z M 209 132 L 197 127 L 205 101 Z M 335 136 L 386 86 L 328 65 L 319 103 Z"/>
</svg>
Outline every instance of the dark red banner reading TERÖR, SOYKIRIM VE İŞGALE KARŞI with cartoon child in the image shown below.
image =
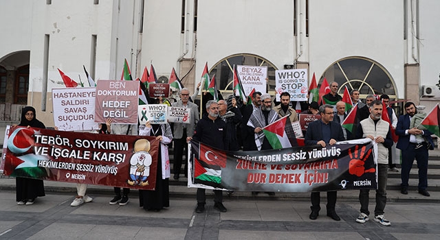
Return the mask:
<svg viewBox="0 0 440 240">
<path fill-rule="evenodd" d="M 5 144 L 7 176 L 155 189 L 159 141 L 154 136 L 16 127 Z"/>
</svg>

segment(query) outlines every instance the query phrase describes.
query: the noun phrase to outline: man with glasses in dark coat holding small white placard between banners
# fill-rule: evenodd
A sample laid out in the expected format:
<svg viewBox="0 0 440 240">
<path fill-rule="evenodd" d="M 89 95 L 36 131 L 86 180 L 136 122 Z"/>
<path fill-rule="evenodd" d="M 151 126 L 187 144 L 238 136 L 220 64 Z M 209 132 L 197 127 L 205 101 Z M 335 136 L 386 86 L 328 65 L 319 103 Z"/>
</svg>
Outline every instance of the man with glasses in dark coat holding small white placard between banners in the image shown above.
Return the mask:
<svg viewBox="0 0 440 240">
<path fill-rule="evenodd" d="M 173 126 L 173 135 L 174 135 L 174 165 L 173 165 L 173 172 L 174 176 L 173 178 L 175 180 L 179 180 L 180 170 L 181 170 L 181 163 L 184 156 L 184 149 L 185 156 L 188 156 L 187 152 L 188 149 L 186 147 L 186 137 L 192 136 L 195 131 L 195 125 L 199 121 L 199 110 L 197 110 L 197 105 L 193 104 L 192 102 L 188 101 L 190 97 L 190 91 L 188 88 L 182 88 L 180 91 L 180 100 L 173 103 L 173 107 L 178 108 L 190 108 L 190 123 L 174 123 Z M 185 165 L 185 176 L 187 175 L 187 169 L 188 166 Z"/>
</svg>

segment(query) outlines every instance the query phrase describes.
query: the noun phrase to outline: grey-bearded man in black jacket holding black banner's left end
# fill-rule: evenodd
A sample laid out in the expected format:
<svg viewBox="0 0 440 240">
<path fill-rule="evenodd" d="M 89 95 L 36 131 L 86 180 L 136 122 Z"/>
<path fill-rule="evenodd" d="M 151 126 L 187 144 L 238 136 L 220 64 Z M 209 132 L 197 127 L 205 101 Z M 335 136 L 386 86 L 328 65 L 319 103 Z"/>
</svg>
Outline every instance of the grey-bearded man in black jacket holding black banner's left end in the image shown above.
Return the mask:
<svg viewBox="0 0 440 240">
<path fill-rule="evenodd" d="M 217 101 L 208 101 L 206 103 L 206 112 L 197 123 L 194 136 L 188 136 L 186 140 L 189 142 L 191 139 L 194 139 L 217 149 L 229 150 L 225 147 L 227 137 L 225 131 L 226 123 L 219 118 L 219 105 Z M 222 202 L 223 194 L 221 190 L 214 190 L 214 209 L 225 213 L 227 210 Z M 205 211 L 205 204 L 205 189 L 197 189 L 197 208 L 195 208 L 195 212 L 203 213 Z"/>
</svg>

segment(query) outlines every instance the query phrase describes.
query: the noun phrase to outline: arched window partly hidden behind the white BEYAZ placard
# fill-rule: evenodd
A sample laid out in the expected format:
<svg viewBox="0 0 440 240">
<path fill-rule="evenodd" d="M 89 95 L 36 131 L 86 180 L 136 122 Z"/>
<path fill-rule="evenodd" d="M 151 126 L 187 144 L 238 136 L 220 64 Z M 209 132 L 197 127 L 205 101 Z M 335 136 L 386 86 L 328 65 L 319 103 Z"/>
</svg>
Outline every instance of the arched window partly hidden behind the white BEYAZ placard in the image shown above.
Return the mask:
<svg viewBox="0 0 440 240">
<path fill-rule="evenodd" d="M 269 62 L 265 58 L 250 53 L 239 53 L 228 56 L 219 60 L 219 62 L 215 63 L 210 69 L 209 75 L 212 77 L 212 75 L 215 74 L 216 84 L 221 93 L 225 93 L 226 95 L 232 93 L 232 88 L 234 87 L 234 65 L 267 66 L 267 91 L 273 95 L 275 94 L 275 70 L 277 70 L 277 68 L 272 62 Z"/>
</svg>

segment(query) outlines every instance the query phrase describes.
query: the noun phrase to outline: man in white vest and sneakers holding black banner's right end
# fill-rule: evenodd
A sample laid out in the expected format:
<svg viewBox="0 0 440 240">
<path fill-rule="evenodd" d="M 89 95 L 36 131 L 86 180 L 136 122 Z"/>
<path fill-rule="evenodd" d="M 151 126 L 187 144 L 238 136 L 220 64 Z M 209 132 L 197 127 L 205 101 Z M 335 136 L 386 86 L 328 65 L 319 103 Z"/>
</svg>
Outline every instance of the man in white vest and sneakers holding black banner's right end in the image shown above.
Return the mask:
<svg viewBox="0 0 440 240">
<path fill-rule="evenodd" d="M 377 144 L 377 189 L 376 207 L 374 209 L 374 220 L 384 226 L 390 226 L 391 222 L 384 217 L 386 205 L 386 182 L 388 179 L 388 149 L 393 146 L 391 128 L 382 117 L 382 102 L 375 100 L 370 104 L 370 117 L 360 121 L 357 138 L 371 139 Z M 356 167 L 356 166 L 354 166 Z M 370 189 L 360 189 L 360 215 L 356 222 L 364 224 L 369 221 L 369 193 Z"/>
</svg>

